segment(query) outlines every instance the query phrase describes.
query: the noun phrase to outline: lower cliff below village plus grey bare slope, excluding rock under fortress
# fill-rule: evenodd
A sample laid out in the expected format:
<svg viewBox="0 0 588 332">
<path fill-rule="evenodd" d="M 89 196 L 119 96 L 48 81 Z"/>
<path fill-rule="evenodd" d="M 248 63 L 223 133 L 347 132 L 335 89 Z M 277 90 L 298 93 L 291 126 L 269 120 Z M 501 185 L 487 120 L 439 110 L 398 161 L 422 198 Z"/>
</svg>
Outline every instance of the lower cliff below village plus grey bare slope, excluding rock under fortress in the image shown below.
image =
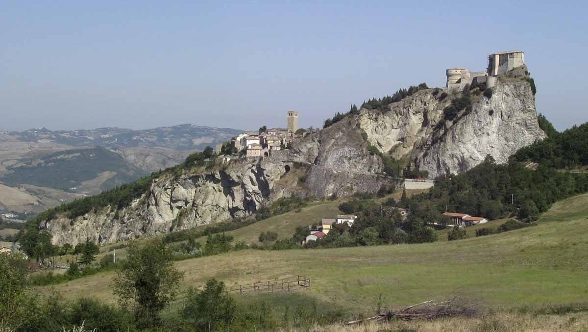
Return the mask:
<svg viewBox="0 0 588 332">
<path fill-rule="evenodd" d="M 349 118 L 307 135 L 276 157 L 218 161 L 209 170 L 181 175 L 165 172 L 128 207 L 106 207 L 74 220 L 58 215 L 43 227 L 54 244 L 75 245 L 86 238 L 108 244 L 248 217 L 281 197 L 350 195 L 392 185 L 376 174 L 382 161 L 366 147 L 356 118 Z"/>
</svg>

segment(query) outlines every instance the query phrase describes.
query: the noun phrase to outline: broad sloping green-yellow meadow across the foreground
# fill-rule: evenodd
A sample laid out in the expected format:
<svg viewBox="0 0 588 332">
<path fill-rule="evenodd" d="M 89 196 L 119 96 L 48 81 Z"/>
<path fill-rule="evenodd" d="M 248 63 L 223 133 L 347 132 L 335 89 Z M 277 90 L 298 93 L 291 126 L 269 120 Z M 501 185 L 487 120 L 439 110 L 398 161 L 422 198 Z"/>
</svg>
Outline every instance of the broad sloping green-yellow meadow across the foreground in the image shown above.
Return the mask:
<svg viewBox="0 0 588 332">
<path fill-rule="evenodd" d="M 184 289 L 199 287 L 209 278 L 235 285 L 307 275 L 313 287 L 304 291 L 306 296 L 366 313 L 373 311 L 380 294 L 389 306 L 440 300 L 456 291 L 503 308 L 586 301 L 588 211 L 582 202 L 588 202 L 588 195 L 554 205 L 547 215 L 559 222 L 460 241 L 245 250 L 179 261 L 176 266 L 185 272 Z M 241 231 L 242 238 L 258 235 Z M 101 273 L 56 285 L 55 290 L 68 298 L 95 296 L 113 303 L 112 276 Z"/>
</svg>

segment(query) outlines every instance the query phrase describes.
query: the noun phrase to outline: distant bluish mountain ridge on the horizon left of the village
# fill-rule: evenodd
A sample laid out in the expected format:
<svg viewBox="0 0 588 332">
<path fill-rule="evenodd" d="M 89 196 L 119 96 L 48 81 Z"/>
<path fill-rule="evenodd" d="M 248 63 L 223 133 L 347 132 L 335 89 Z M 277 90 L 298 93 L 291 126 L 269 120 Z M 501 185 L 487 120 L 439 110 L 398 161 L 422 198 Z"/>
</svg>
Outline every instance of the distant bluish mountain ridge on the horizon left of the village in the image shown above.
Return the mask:
<svg viewBox="0 0 588 332">
<path fill-rule="evenodd" d="M 71 147 L 101 146 L 105 148 L 167 148 L 175 151 L 203 150 L 210 145 L 230 140 L 243 130 L 181 124 L 146 130 L 127 128 L 96 128 L 92 130 L 58 130 L 36 128 L 4 132 L 18 141 L 49 141 Z"/>
</svg>

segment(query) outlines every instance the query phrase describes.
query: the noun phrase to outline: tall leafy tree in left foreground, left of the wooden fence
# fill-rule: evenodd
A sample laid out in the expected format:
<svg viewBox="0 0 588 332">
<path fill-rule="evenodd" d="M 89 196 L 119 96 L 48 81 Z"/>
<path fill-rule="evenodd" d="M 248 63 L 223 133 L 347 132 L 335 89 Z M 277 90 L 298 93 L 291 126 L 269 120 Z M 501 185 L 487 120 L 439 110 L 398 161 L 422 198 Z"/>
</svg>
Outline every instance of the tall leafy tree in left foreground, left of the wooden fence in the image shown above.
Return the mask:
<svg viewBox="0 0 588 332">
<path fill-rule="evenodd" d="M 133 308 L 139 328 L 154 326 L 166 303 L 173 301 L 183 273 L 173 266 L 165 241 L 131 243 L 114 280 L 113 294 L 123 308 Z"/>
</svg>

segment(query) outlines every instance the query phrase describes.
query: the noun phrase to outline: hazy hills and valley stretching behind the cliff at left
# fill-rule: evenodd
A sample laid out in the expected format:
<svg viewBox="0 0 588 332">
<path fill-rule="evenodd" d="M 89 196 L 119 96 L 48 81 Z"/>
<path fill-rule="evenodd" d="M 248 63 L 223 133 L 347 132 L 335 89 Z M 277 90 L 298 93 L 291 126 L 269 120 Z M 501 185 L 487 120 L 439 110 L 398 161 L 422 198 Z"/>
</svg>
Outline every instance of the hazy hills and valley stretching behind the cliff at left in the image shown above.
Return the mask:
<svg viewBox="0 0 588 332">
<path fill-rule="evenodd" d="M 0 132 L 0 212 L 32 217 L 76 198 L 181 164 L 237 130 L 190 124 L 150 130 L 99 128 Z"/>
</svg>

